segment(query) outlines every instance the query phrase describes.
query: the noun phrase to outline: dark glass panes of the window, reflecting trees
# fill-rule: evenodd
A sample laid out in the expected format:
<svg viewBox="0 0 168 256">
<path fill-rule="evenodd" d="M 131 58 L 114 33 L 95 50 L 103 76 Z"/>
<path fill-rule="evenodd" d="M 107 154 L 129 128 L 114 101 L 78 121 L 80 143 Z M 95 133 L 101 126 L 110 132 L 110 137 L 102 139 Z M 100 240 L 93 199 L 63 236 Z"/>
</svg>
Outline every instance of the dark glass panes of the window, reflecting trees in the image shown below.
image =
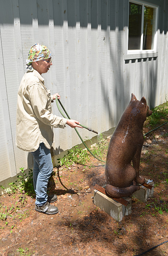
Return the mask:
<svg viewBox="0 0 168 256">
<path fill-rule="evenodd" d="M 157 9 L 142 1 L 129 2 L 128 52 L 156 50 Z"/>
</svg>

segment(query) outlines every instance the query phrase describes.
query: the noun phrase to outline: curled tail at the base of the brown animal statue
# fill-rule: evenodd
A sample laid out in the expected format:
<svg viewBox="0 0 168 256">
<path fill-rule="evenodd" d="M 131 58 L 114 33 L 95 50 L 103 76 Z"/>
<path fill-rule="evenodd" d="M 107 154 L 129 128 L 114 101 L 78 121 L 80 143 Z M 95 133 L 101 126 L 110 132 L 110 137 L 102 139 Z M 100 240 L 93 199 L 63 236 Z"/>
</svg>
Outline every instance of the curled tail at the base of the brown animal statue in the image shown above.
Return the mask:
<svg viewBox="0 0 168 256">
<path fill-rule="evenodd" d="M 135 192 L 139 189 L 140 189 L 140 187 L 137 185 L 132 185 L 127 188 L 117 188 L 110 184 L 106 185 L 106 192 L 108 193 L 108 195 L 110 195 L 112 197 L 116 197 L 116 198 L 130 196 L 130 195 L 132 195 L 133 192 Z"/>
</svg>

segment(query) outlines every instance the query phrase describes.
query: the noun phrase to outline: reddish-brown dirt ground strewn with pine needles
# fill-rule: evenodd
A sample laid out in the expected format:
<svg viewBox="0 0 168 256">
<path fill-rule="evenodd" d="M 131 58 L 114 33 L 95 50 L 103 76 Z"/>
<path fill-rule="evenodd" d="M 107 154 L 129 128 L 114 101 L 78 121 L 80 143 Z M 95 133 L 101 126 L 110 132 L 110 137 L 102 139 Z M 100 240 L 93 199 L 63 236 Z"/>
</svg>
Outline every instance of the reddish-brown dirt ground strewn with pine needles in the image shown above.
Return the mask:
<svg viewBox="0 0 168 256">
<path fill-rule="evenodd" d="M 94 185 L 105 184 L 103 163 L 93 157 L 85 166 L 54 168 L 48 189 L 58 196 L 58 214 L 36 212 L 31 196 L 0 196 L 1 209 L 14 207 L 0 220 L 0 255 L 133 256 L 168 240 L 168 123 L 146 136 L 140 169 L 155 181 L 154 195 L 146 203 L 134 198 L 132 213 L 121 222 L 93 204 Z M 168 243 L 149 255 L 168 255 Z"/>
</svg>

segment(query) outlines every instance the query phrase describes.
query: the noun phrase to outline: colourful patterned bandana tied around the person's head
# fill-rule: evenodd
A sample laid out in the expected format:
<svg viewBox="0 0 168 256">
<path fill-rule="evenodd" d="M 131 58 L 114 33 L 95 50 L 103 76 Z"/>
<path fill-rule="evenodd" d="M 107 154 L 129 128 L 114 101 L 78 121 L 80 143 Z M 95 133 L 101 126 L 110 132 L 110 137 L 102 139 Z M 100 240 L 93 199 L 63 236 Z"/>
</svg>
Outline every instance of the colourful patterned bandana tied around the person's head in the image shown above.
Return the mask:
<svg viewBox="0 0 168 256">
<path fill-rule="evenodd" d="M 31 65 L 32 62 L 48 58 L 51 58 L 50 50 L 48 50 L 45 45 L 35 44 L 29 51 L 28 59 L 26 60 L 26 69 L 33 71 L 34 68 Z"/>
</svg>

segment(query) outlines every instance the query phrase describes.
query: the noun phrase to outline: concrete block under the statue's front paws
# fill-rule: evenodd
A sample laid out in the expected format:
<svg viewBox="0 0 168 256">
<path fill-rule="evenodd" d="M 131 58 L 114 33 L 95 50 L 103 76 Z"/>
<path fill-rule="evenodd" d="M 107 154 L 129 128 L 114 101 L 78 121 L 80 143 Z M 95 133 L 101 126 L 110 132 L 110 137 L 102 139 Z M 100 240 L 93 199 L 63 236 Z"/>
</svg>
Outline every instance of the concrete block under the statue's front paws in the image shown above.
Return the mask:
<svg viewBox="0 0 168 256">
<path fill-rule="evenodd" d="M 148 182 L 148 181 L 149 180 L 145 179 L 145 182 L 151 185 L 152 189 L 141 187 L 140 190 L 135 191 L 130 197 L 134 196 L 138 200 L 141 200 L 142 202 L 146 202 L 149 197 L 153 196 L 155 182 L 154 181 Z"/>
</svg>

